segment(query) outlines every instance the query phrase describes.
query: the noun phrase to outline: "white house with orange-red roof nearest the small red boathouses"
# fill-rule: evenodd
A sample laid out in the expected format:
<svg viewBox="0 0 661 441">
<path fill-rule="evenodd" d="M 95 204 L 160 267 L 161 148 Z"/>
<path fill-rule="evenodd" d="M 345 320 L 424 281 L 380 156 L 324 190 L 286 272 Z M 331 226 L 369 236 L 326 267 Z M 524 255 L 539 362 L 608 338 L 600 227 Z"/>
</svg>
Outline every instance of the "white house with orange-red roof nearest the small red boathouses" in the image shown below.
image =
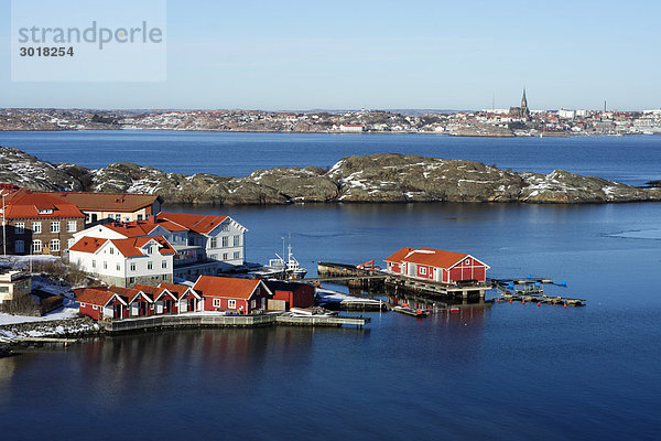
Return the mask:
<svg viewBox="0 0 661 441">
<path fill-rule="evenodd" d="M 98 238 L 84 236 L 69 248 L 69 261 L 108 284 L 172 282 L 176 251 L 163 236 Z"/>
</svg>

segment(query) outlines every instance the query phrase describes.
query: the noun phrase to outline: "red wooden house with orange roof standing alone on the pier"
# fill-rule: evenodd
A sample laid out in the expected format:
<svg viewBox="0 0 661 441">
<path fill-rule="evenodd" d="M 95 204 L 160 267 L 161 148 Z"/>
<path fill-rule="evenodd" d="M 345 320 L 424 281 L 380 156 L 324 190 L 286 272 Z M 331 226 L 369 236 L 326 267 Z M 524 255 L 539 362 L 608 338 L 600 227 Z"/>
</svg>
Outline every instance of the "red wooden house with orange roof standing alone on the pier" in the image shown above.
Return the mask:
<svg viewBox="0 0 661 441">
<path fill-rule="evenodd" d="M 489 266 L 475 257 L 432 248 L 402 248 L 384 259 L 388 272 L 444 283 L 484 282 Z"/>
</svg>

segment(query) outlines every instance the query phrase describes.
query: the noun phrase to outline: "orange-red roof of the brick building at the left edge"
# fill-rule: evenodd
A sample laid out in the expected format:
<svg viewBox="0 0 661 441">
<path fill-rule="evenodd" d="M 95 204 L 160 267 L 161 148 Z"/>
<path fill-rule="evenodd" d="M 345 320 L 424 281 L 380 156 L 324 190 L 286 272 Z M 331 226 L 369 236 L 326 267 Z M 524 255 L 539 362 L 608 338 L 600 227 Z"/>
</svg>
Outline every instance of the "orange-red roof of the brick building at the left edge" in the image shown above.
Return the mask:
<svg viewBox="0 0 661 441">
<path fill-rule="evenodd" d="M 6 203 L 7 213 L 4 215 L 8 219 L 85 218 L 85 215 L 74 204 L 51 194 L 32 193 L 29 190 L 15 192 Z"/>
</svg>

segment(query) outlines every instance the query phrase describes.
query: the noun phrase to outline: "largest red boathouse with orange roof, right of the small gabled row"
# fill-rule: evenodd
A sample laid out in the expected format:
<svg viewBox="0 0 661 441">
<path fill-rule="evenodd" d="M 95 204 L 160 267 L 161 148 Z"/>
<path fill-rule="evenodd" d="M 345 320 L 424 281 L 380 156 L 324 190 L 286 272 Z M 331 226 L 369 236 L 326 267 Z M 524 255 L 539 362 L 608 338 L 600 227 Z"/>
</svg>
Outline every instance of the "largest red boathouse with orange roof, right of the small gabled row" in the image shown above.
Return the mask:
<svg viewBox="0 0 661 441">
<path fill-rule="evenodd" d="M 205 311 L 251 314 L 264 311 L 272 297 L 264 282 L 254 279 L 199 276 L 193 289 L 204 298 Z"/>
</svg>

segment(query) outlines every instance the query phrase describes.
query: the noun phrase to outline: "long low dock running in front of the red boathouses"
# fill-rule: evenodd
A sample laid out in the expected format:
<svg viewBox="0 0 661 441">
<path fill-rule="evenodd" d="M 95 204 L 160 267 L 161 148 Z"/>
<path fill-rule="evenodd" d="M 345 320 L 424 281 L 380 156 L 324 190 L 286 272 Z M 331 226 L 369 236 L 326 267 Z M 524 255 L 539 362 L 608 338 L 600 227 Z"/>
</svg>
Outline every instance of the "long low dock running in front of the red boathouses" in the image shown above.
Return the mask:
<svg viewBox="0 0 661 441">
<path fill-rule="evenodd" d="M 160 330 L 166 327 L 257 327 L 272 325 L 295 326 L 357 326 L 362 327 L 370 322 L 362 316 L 327 316 L 306 315 L 288 316 L 283 314 L 261 315 L 220 315 L 220 314 L 181 314 L 153 315 L 148 318 L 123 319 L 102 322 L 110 333 Z"/>
</svg>

